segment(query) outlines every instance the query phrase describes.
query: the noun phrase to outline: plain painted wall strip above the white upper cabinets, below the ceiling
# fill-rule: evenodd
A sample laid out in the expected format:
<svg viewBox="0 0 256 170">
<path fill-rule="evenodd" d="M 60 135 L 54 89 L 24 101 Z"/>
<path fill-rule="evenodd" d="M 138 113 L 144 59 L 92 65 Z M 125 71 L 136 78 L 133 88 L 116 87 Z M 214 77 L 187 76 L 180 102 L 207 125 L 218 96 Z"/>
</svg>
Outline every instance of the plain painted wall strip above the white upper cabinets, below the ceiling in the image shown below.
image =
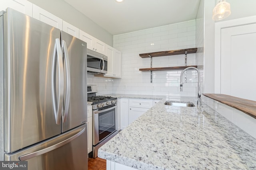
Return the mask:
<svg viewBox="0 0 256 170">
<path fill-rule="evenodd" d="M 82 31 L 112 46 L 113 35 L 97 25 L 84 14 L 70 6 L 64 0 L 28 0 L 40 8 L 58 16 L 62 20 L 78 27 Z"/>
</svg>

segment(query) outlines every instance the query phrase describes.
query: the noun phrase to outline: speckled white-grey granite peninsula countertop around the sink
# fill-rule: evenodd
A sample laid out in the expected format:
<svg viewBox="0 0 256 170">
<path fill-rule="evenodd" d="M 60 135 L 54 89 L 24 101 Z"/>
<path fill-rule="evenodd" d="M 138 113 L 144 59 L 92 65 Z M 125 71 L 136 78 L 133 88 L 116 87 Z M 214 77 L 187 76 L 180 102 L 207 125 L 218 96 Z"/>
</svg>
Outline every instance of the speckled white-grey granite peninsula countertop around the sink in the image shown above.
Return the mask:
<svg viewBox="0 0 256 170">
<path fill-rule="evenodd" d="M 168 100 L 196 104 L 192 97 Z M 98 156 L 139 170 L 256 169 L 252 136 L 203 102 L 202 107 L 177 107 L 165 101 L 100 147 Z"/>
</svg>

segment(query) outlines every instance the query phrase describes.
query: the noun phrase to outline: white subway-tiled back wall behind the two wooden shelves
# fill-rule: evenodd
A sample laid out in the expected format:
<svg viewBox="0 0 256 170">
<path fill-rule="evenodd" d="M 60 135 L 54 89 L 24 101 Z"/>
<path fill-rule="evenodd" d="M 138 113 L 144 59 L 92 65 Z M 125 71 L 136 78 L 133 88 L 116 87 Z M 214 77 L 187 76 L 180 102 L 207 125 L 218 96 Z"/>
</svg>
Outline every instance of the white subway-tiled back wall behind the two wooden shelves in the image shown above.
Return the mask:
<svg viewBox="0 0 256 170">
<path fill-rule="evenodd" d="M 154 44 L 154 45 L 151 45 Z M 166 96 L 196 96 L 197 75 L 188 70 L 188 82 L 180 92 L 182 70 L 141 72 L 150 58 L 139 54 L 196 47 L 196 20 L 114 35 L 114 48 L 122 51 L 122 79 L 113 79 L 113 93 Z M 153 67 L 184 66 L 185 55 L 154 57 Z M 196 54 L 188 54 L 188 65 L 196 65 Z M 193 72 L 193 73 L 192 73 Z"/>
</svg>

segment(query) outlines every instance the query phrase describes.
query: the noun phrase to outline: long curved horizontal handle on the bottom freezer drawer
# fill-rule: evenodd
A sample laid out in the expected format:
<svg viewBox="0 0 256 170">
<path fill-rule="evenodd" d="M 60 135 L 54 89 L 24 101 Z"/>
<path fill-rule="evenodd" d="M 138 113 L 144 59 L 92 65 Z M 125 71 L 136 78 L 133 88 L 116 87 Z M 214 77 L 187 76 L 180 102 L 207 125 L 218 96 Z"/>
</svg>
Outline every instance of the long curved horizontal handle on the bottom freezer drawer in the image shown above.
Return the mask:
<svg viewBox="0 0 256 170">
<path fill-rule="evenodd" d="M 30 158 L 34 158 L 36 156 L 39 156 L 39 155 L 42 155 L 42 154 L 45 154 L 46 152 L 50 152 L 54 149 L 57 149 L 59 147 L 62 147 L 63 145 L 66 145 L 67 143 L 70 143 L 71 141 L 73 141 L 74 139 L 76 139 L 77 137 L 79 137 L 82 133 L 84 133 L 85 131 L 85 128 L 83 128 L 81 131 L 79 131 L 78 133 L 76 133 L 75 135 L 73 135 L 72 137 L 60 142 L 60 143 L 57 143 L 55 145 L 52 145 L 51 147 L 48 147 L 48 148 L 45 148 L 45 149 L 42 149 L 42 150 L 38 150 L 36 152 L 32 152 L 32 153 L 29 153 L 29 154 L 25 154 L 23 156 L 20 156 L 19 159 L 21 161 L 24 161 L 24 160 L 28 160 Z"/>
</svg>

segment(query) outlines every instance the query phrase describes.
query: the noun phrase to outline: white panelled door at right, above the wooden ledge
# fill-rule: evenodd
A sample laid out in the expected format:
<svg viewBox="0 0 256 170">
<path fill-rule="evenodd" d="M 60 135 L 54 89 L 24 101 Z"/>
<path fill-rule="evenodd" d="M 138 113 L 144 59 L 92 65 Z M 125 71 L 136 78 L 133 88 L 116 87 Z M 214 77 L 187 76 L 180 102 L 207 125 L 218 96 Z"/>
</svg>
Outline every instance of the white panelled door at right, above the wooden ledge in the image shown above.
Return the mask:
<svg viewBox="0 0 256 170">
<path fill-rule="evenodd" d="M 256 23 L 221 29 L 220 92 L 256 100 Z"/>
</svg>

